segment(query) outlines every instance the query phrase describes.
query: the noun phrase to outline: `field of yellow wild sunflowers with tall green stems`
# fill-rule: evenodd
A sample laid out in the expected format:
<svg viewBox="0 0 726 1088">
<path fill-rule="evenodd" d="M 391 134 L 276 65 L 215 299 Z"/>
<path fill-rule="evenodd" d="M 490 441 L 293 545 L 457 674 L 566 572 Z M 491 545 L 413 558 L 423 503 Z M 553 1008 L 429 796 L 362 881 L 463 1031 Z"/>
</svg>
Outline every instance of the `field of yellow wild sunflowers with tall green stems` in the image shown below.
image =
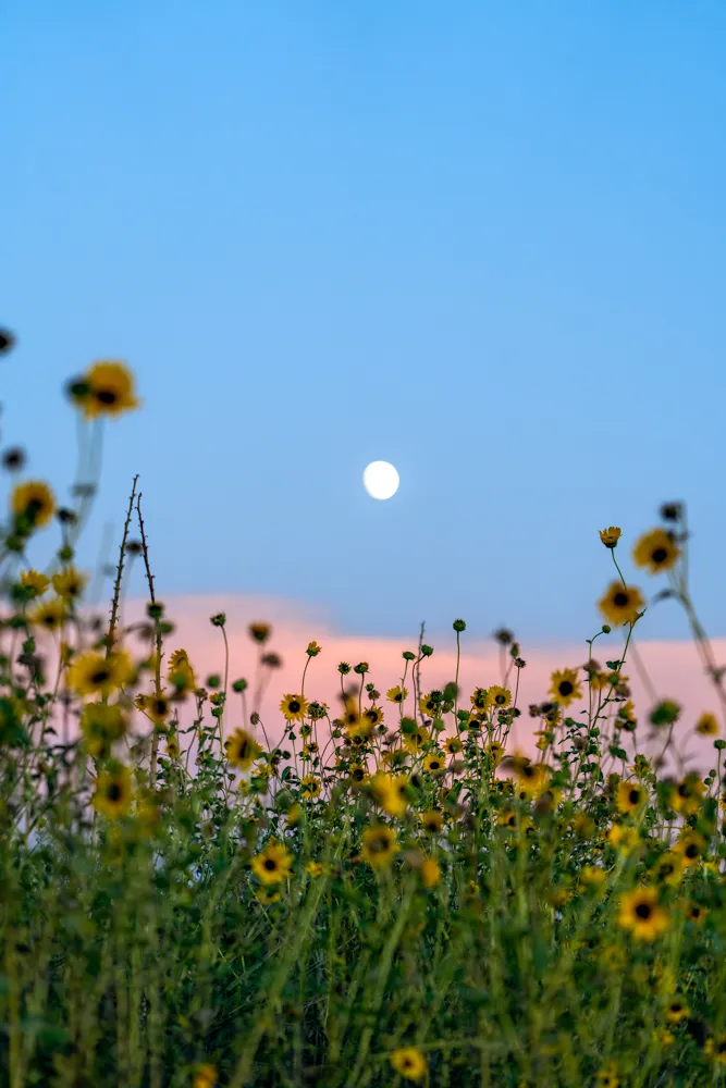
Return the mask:
<svg viewBox="0 0 726 1088">
<path fill-rule="evenodd" d="M 90 447 L 139 407 L 115 361 L 66 394 Z M 77 479 L 64 507 L 24 450 L 1 456 L 1 1088 L 725 1083 L 726 698 L 680 504 L 632 549 L 641 589 L 620 573 L 620 530 L 593 534 L 603 626 L 540 703 L 519 705 L 506 630 L 502 673 L 473 691 L 458 675 L 427 688 L 422 636 L 384 692 L 368 663 L 329 662 L 334 706 L 311 697 L 325 647 L 310 642 L 271 721 L 267 623 L 249 623 L 249 682 L 224 614 L 219 675 L 175 645 L 137 479 L 98 618 L 75 565 L 98 481 Z M 41 534 L 44 571 L 26 558 Z M 143 653 L 121 607 L 132 556 Z M 712 707 L 697 720 L 633 706 L 645 585 L 688 616 Z M 465 638 L 456 619 L 457 660 Z M 518 717 L 536 755 L 512 742 Z M 713 744 L 705 771 L 681 755 L 693 733 Z"/>
</svg>

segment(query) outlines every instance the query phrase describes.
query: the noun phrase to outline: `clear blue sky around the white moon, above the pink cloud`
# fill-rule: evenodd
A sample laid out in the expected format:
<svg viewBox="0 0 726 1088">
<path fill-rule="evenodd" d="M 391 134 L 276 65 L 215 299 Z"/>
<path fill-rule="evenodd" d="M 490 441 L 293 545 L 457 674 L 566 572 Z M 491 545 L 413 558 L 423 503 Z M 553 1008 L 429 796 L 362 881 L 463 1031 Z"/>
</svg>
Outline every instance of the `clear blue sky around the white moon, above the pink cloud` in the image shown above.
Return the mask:
<svg viewBox="0 0 726 1088">
<path fill-rule="evenodd" d="M 596 530 L 682 498 L 723 634 L 725 35 L 719 0 L 5 3 L 3 442 L 65 496 L 65 379 L 126 359 L 145 401 L 82 559 L 139 472 L 161 596 L 571 640 Z"/>
</svg>

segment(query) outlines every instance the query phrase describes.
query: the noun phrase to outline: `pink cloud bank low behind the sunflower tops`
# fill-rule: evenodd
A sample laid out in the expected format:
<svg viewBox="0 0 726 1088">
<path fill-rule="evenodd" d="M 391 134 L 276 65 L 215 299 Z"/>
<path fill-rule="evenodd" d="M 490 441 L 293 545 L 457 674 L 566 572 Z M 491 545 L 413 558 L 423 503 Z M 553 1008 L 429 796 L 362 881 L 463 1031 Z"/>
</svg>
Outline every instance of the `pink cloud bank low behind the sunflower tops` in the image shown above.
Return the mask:
<svg viewBox="0 0 726 1088">
<path fill-rule="evenodd" d="M 248 710 L 253 709 L 258 647 L 251 642 L 247 627 L 254 620 L 266 620 L 271 623 L 272 635 L 264 650 L 278 653 L 283 664 L 282 668 L 272 672 L 258 709 L 273 743 L 282 730 L 282 716 L 278 708 L 280 700 L 285 693 L 299 693 L 303 669 L 307 660 L 305 650 L 311 640 L 317 640 L 322 646 L 322 653 L 310 662 L 306 675 L 305 694 L 308 698 L 328 703 L 331 712 L 336 712 L 340 706 L 337 698 L 341 688 L 337 672 L 340 662 L 348 662 L 352 666 L 361 660 L 368 662 L 370 675 L 366 677 L 366 681 L 376 683 L 378 690 L 384 694 L 387 688 L 401 680 L 404 666 L 402 652 L 415 651 L 418 644 L 417 632 L 409 639 L 344 635 L 334 630 L 323 610 L 311 605 L 273 597 L 241 594 L 176 596 L 168 598 L 165 604 L 167 618 L 175 623 L 175 630 L 168 636 L 164 651 L 168 654 L 183 646 L 188 652 L 197 678 L 202 684 L 210 673 L 224 671 L 222 634 L 210 623 L 210 617 L 220 611 L 225 613 L 225 632 L 230 645 L 229 679 L 231 683 L 244 677 L 250 684 L 253 690 L 247 696 Z M 128 602 L 124 607 L 124 621 L 128 623 L 141 619 L 145 607 L 144 602 Z M 421 682 L 424 691 L 443 688 L 447 681 L 454 679 L 456 671 L 454 632 L 448 631 L 439 638 L 427 634 L 427 641 L 434 647 L 434 654 L 421 665 Z M 715 641 L 713 648 L 717 660 L 726 658 L 726 640 Z M 503 681 L 503 658 L 500 647 L 493 640 L 487 642 L 469 640 L 466 632 L 462 638 L 462 651 L 459 684 L 463 690 L 462 703 L 468 706 L 468 695 L 475 687 Z M 596 651 L 594 656 L 604 665 L 605 659 L 617 658 L 620 652 L 622 643 L 611 641 L 604 648 Z M 696 646 L 690 642 L 648 641 L 638 643 L 637 653 L 657 697 L 675 700 L 684 708 L 681 719 L 676 727 L 681 756 L 689 767 L 707 770 L 714 764 L 712 741 L 697 737 L 692 732 L 692 727 L 702 710 L 717 713 L 718 702 L 711 681 L 704 675 Z M 564 667 L 581 666 L 588 657 L 588 647 L 585 643 L 533 647 L 522 645 L 521 654 L 527 660 L 527 667 L 519 673 L 517 698 L 522 715 L 515 722 L 513 741 L 525 750 L 533 751 L 532 729 L 536 726 L 528 714 L 529 704 L 546 700 L 551 673 Z M 648 712 L 653 705 L 653 697 L 636 668 L 632 656 L 629 654 L 628 657 L 625 672 L 630 678 L 636 712 L 639 718 L 645 721 Z M 358 678 L 347 678 L 348 681 L 353 679 Z M 513 670 L 510 685 L 515 681 L 516 673 Z M 407 687 L 410 691 L 410 683 Z M 239 696 L 231 693 L 227 705 L 226 727 L 232 729 L 235 725 L 243 724 Z M 385 705 L 390 707 L 389 718 L 393 724 L 396 710 L 391 704 Z M 410 696 L 408 705 L 413 709 Z M 579 706 L 570 707 L 569 713 L 573 717 L 577 717 L 579 708 Z M 653 754 L 660 744 L 649 746 L 647 733 L 648 726 L 641 726 L 638 733 L 638 751 Z"/>
</svg>

